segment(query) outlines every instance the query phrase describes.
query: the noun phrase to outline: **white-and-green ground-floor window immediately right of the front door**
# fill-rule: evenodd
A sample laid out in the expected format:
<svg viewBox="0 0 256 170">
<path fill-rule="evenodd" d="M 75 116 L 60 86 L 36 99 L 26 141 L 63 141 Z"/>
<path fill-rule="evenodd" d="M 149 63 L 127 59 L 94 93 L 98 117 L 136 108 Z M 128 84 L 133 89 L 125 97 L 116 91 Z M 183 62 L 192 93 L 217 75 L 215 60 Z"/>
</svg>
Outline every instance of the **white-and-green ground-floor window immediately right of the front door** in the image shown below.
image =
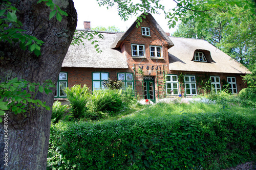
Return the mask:
<svg viewBox="0 0 256 170">
<path fill-rule="evenodd" d="M 179 83 L 177 75 L 166 75 L 166 94 L 179 95 Z"/>
</svg>

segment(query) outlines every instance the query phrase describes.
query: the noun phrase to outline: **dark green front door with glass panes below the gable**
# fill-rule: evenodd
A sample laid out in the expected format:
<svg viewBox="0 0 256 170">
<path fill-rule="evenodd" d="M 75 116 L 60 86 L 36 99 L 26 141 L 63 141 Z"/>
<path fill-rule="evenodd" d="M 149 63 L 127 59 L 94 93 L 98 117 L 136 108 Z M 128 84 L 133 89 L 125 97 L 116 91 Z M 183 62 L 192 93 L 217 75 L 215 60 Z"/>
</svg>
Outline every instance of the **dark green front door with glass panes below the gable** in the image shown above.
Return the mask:
<svg viewBox="0 0 256 170">
<path fill-rule="evenodd" d="M 143 86 L 144 86 L 144 99 L 151 99 L 155 101 L 154 77 L 145 76 Z"/>
</svg>

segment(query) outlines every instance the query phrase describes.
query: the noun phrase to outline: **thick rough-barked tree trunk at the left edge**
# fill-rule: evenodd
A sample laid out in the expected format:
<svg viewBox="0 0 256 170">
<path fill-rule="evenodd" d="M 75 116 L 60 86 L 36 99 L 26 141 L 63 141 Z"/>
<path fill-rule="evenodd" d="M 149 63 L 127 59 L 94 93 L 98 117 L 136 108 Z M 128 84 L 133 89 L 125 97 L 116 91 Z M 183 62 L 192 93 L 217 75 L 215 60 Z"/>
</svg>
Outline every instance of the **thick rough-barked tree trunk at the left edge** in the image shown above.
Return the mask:
<svg viewBox="0 0 256 170">
<path fill-rule="evenodd" d="M 21 50 L 18 43 L 0 42 L 0 76 L 37 83 L 50 79 L 56 83 L 76 28 L 77 13 L 73 1 L 54 1 L 68 13 L 67 17 L 62 16 L 61 22 L 55 17 L 49 20 L 51 9 L 45 3 L 37 4 L 33 0 L 17 2 L 17 17 L 23 23 L 22 29 L 45 43 L 41 46 L 41 56 L 37 57 L 28 50 Z M 48 95 L 38 92 L 35 99 L 46 101 L 52 107 L 54 92 Z M 0 124 L 0 169 L 46 169 L 51 111 L 37 107 L 25 114 L 6 113 L 8 136 L 4 136 L 4 122 Z M 6 147 L 7 159 L 3 152 Z"/>
</svg>

